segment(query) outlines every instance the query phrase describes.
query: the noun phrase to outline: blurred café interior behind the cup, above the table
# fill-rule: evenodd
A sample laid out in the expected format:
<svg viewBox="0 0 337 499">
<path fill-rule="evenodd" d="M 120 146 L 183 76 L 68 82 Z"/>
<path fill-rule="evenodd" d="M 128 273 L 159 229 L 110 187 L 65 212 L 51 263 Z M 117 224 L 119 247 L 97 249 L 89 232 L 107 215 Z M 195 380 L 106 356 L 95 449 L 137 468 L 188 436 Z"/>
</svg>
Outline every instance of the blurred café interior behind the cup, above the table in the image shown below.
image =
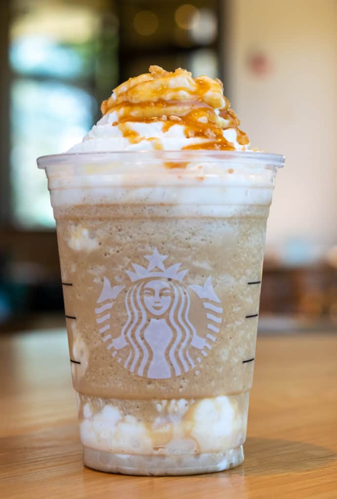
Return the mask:
<svg viewBox="0 0 337 499">
<path fill-rule="evenodd" d="M 261 331 L 337 328 L 337 0 L 1 0 L 0 331 L 64 325 L 36 157 L 63 152 L 150 64 L 224 81 L 252 147 L 286 156 Z"/>
</svg>

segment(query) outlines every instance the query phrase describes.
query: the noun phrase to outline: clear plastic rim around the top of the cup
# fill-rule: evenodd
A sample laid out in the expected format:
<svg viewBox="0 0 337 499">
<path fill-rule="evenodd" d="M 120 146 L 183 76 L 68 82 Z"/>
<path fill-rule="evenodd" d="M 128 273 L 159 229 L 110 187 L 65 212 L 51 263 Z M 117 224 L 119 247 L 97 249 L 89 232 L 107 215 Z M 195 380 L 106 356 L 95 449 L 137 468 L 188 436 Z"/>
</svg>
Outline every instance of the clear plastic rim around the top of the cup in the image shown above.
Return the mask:
<svg viewBox="0 0 337 499">
<path fill-rule="evenodd" d="M 259 163 L 262 165 L 283 168 L 285 157 L 282 154 L 271 154 L 255 151 L 208 151 L 208 150 L 178 150 L 178 151 L 97 151 L 84 153 L 50 154 L 37 158 L 38 168 L 44 169 L 50 165 L 66 163 L 100 163 L 109 161 L 132 161 L 135 163 L 162 160 L 162 161 L 237 161 L 240 163 Z"/>
</svg>

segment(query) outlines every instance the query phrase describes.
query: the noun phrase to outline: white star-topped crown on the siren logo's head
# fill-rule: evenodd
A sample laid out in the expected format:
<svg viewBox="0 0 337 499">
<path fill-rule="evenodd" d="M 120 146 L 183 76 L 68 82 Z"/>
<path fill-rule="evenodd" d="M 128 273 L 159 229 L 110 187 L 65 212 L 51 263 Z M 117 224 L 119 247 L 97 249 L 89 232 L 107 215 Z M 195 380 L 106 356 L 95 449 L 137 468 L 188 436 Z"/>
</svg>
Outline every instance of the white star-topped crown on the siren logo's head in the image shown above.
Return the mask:
<svg viewBox="0 0 337 499">
<path fill-rule="evenodd" d="M 188 272 L 188 270 L 179 271 L 181 263 L 175 263 L 166 268 L 163 261 L 167 258 L 167 255 L 160 254 L 157 248 L 153 250 L 152 254 L 145 255 L 145 258 L 149 261 L 147 268 L 137 265 L 137 263 L 132 263 L 135 271 L 125 270 L 132 282 L 146 279 L 147 277 L 166 277 L 181 282 Z"/>
</svg>

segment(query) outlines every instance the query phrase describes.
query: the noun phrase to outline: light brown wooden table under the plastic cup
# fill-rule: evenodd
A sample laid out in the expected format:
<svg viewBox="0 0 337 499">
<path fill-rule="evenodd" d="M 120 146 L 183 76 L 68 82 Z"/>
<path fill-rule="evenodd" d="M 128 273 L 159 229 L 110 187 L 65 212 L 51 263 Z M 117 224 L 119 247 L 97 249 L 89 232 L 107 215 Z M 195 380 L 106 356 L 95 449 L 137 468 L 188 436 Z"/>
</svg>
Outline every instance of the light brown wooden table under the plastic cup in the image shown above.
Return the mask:
<svg viewBox="0 0 337 499">
<path fill-rule="evenodd" d="M 244 464 L 201 476 L 82 465 L 65 331 L 0 338 L 0 497 L 337 498 L 337 334 L 261 336 Z"/>
</svg>

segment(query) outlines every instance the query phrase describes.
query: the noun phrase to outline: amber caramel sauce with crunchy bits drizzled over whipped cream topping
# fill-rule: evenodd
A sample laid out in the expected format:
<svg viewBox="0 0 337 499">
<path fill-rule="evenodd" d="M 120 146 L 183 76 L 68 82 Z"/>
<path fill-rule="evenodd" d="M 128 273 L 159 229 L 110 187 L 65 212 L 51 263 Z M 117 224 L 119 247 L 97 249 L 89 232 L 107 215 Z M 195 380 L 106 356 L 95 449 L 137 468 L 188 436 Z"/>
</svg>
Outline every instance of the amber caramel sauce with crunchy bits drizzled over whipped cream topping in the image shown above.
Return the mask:
<svg viewBox="0 0 337 499">
<path fill-rule="evenodd" d="M 102 102 L 101 111 L 103 115 L 115 113 L 118 120 L 112 126 L 117 126 L 132 144 L 148 140 L 153 141 L 154 149 L 161 149 L 158 138 L 142 137 L 133 130 L 132 123 L 162 122 L 162 132 L 179 125 L 187 139 L 194 139 L 183 149 L 236 150 L 224 136 L 225 130 L 232 129 L 244 150 L 249 139 L 240 130 L 240 121 L 230 105 L 218 78 L 193 78 L 185 69 L 170 72 L 150 66 L 149 73 L 129 78 L 116 87 L 111 97 Z"/>
</svg>

